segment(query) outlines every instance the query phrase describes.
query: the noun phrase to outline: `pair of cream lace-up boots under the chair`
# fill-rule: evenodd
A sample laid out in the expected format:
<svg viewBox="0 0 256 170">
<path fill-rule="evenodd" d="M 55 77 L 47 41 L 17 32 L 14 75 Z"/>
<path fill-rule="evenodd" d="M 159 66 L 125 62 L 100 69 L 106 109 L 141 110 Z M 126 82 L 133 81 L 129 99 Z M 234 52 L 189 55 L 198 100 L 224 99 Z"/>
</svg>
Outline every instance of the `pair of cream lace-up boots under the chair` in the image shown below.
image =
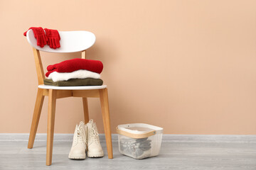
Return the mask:
<svg viewBox="0 0 256 170">
<path fill-rule="evenodd" d="M 68 155 L 69 159 L 85 159 L 87 157 L 103 157 L 104 153 L 100 145 L 96 123 L 90 120 L 85 124 L 80 122 L 75 126 L 73 145 Z"/>
</svg>

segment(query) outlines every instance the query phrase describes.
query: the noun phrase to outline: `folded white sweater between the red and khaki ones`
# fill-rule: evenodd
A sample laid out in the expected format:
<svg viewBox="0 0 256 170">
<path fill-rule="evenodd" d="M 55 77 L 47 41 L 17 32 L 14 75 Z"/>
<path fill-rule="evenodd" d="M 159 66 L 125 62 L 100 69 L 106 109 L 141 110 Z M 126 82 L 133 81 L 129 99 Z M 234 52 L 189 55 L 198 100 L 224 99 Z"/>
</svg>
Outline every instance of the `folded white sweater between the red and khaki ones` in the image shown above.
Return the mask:
<svg viewBox="0 0 256 170">
<path fill-rule="evenodd" d="M 47 77 L 47 79 L 52 79 L 54 82 L 67 81 L 69 79 L 86 79 L 86 78 L 100 79 L 100 74 L 97 74 L 95 72 L 90 72 L 85 69 L 79 69 L 75 72 L 64 72 L 64 73 L 52 72 Z"/>
</svg>

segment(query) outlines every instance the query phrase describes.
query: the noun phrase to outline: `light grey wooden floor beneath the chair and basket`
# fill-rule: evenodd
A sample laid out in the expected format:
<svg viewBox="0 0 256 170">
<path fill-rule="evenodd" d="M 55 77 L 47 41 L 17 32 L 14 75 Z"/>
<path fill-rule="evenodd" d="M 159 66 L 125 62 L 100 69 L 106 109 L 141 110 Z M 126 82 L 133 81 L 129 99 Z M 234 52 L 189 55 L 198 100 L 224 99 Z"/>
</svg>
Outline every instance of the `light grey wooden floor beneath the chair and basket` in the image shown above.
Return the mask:
<svg viewBox="0 0 256 170">
<path fill-rule="evenodd" d="M 113 137 L 114 159 L 107 159 L 104 137 L 101 138 L 105 157 L 68 159 L 71 141 L 55 141 L 53 164 L 46 166 L 46 141 L 38 140 L 33 149 L 27 149 L 24 140 L 3 140 L 0 137 L 0 169 L 256 169 L 256 141 L 235 137 L 227 142 L 225 137 L 164 137 L 158 157 L 132 159 L 119 154 L 117 137 Z M 7 137 L 8 138 L 8 137 Z M 250 137 L 249 137 L 250 138 Z M 1 140 L 2 139 L 2 140 Z"/>
</svg>

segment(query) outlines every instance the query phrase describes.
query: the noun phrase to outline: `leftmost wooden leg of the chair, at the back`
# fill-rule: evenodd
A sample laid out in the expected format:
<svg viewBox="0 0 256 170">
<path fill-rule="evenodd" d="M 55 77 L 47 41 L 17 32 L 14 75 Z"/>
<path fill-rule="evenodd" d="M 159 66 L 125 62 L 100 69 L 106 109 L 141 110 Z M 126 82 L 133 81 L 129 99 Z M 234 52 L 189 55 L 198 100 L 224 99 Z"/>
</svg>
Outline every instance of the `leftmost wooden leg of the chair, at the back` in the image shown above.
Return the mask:
<svg viewBox="0 0 256 170">
<path fill-rule="evenodd" d="M 33 119 L 31 123 L 31 131 L 28 139 L 28 148 L 31 149 L 33 147 L 33 143 L 36 137 L 36 131 L 38 128 L 38 122 L 40 119 L 42 106 L 43 106 L 43 89 L 38 89 L 37 96 L 36 96 L 36 104 L 33 111 Z"/>
</svg>

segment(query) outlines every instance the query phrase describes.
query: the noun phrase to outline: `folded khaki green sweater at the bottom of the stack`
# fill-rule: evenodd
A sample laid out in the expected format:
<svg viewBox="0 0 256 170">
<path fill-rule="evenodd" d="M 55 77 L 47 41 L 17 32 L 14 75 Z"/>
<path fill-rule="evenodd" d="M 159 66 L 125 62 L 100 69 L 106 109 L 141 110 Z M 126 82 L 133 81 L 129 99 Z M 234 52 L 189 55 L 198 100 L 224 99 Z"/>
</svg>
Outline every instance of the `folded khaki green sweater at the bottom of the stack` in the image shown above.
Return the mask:
<svg viewBox="0 0 256 170">
<path fill-rule="evenodd" d="M 103 84 L 102 79 L 69 79 L 68 81 L 56 81 L 52 79 L 44 79 L 43 84 L 50 86 L 101 86 Z"/>
</svg>

